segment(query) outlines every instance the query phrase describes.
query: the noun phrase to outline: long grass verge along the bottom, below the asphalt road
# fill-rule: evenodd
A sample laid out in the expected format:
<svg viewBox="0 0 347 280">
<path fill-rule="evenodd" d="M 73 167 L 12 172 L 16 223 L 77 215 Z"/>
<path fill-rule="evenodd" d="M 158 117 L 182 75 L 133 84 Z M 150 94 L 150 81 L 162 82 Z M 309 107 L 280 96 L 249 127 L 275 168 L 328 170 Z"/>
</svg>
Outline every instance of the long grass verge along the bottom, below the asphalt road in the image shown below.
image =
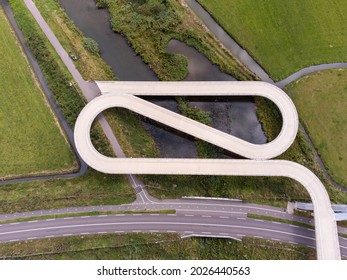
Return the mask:
<svg viewBox="0 0 347 280">
<path fill-rule="evenodd" d="M 271 250 L 264 250 L 269 247 Z M 49 238 L 1 244 L 0 259 L 315 259 L 313 249 L 244 238 L 181 239 L 176 234 L 130 233 Z"/>
</svg>

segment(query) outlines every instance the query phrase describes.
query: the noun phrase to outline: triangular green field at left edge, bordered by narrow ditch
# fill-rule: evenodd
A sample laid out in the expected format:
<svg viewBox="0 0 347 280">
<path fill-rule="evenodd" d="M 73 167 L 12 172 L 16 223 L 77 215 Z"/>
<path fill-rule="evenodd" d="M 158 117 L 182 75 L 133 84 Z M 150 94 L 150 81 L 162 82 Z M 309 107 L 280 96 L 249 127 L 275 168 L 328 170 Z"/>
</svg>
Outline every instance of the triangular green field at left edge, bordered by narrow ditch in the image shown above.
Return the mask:
<svg viewBox="0 0 347 280">
<path fill-rule="evenodd" d="M 76 168 L 28 61 L 0 9 L 0 179 Z"/>
</svg>

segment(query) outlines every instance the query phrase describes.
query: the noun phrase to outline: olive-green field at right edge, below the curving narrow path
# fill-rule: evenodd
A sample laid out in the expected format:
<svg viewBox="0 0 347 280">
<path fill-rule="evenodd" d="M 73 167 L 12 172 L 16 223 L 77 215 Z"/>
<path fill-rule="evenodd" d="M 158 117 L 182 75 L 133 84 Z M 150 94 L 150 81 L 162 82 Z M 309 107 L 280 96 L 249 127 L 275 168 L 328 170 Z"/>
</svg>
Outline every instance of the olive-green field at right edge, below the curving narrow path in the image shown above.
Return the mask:
<svg viewBox="0 0 347 280">
<path fill-rule="evenodd" d="M 286 91 L 329 174 L 347 186 L 347 70 L 316 72 Z"/>
</svg>

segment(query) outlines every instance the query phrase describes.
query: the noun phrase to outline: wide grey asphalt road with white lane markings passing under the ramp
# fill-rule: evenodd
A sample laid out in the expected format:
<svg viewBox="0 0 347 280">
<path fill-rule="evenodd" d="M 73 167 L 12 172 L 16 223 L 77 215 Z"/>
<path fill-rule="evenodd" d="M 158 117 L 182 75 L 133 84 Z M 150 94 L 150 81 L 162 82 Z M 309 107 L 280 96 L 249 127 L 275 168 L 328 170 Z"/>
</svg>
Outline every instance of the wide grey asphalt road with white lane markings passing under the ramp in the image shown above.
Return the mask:
<svg viewBox="0 0 347 280">
<path fill-rule="evenodd" d="M 0 225 L 0 242 L 73 235 L 163 232 L 183 237 L 264 238 L 315 248 L 313 229 L 260 219 L 249 219 L 237 213 L 118 214 L 33 220 Z M 340 250 L 347 256 L 347 239 L 340 237 Z"/>
</svg>

